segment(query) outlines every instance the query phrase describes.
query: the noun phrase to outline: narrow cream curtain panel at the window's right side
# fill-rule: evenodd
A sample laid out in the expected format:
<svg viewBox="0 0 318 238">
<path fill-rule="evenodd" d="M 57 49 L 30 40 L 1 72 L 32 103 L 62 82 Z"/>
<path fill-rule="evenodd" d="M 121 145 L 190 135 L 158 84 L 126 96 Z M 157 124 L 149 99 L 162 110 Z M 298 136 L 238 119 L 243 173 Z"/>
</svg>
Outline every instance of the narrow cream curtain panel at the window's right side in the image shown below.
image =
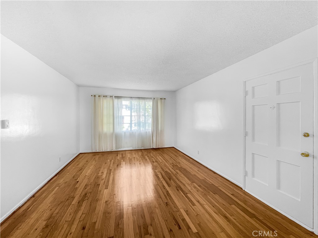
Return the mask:
<svg viewBox="0 0 318 238">
<path fill-rule="evenodd" d="M 164 99 L 155 97 L 152 99 L 152 147 L 164 146 Z"/>
</svg>

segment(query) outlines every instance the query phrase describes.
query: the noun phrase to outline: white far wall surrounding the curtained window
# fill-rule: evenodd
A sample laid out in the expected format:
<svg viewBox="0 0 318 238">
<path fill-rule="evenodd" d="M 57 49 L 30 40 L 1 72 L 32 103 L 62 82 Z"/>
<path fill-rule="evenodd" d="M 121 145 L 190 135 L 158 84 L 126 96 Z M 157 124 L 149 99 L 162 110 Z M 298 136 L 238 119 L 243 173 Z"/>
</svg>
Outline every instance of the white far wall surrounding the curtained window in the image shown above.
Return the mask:
<svg viewBox="0 0 318 238">
<path fill-rule="evenodd" d="M 166 98 L 166 100 L 165 100 L 165 115 L 164 115 L 165 146 L 173 146 L 174 145 L 174 140 L 175 140 L 175 135 L 176 135 L 175 92 L 79 87 L 80 152 L 92 151 L 92 145 L 91 145 L 91 115 L 92 115 L 92 104 L 91 103 L 92 103 L 92 97 L 91 97 L 91 95 L 93 95 L 93 94 L 127 96 L 127 97 L 164 97 L 164 98 Z"/>
</svg>

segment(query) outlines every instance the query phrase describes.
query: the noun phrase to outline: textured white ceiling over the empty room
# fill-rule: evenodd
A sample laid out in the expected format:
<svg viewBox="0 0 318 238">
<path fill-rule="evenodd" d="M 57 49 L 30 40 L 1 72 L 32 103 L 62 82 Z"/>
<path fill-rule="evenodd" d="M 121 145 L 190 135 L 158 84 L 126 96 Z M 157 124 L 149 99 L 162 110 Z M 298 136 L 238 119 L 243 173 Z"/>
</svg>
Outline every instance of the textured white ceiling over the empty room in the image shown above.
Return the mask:
<svg viewBox="0 0 318 238">
<path fill-rule="evenodd" d="M 177 90 L 317 25 L 317 1 L 1 1 L 1 33 L 80 86 Z"/>
</svg>

